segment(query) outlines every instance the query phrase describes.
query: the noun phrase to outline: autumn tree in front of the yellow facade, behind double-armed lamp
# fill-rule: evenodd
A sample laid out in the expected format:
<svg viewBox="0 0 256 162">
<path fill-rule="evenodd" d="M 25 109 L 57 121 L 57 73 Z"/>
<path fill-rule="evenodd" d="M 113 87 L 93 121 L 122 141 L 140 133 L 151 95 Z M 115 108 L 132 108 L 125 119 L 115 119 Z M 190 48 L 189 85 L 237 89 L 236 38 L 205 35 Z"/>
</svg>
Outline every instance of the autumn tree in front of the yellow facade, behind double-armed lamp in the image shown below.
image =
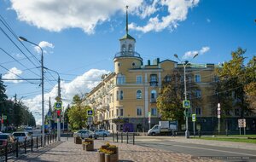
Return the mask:
<svg viewBox="0 0 256 162">
<path fill-rule="evenodd" d="M 163 87 L 160 90 L 160 95 L 157 98 L 157 108 L 159 113 L 161 114 L 161 119 L 177 120 L 178 123 L 181 124 L 183 123 L 183 112 L 185 110 L 183 108 L 183 71 L 176 70 L 167 76 L 171 79 L 164 79 L 162 82 Z M 186 78 L 188 78 L 188 100 L 190 100 L 191 107 L 197 107 L 200 104 L 201 99 L 195 97 L 195 90 L 197 90 L 198 87 L 195 85 L 195 83 L 189 81 L 189 78 L 193 78 L 192 72 L 188 73 L 186 75 Z"/>
</svg>

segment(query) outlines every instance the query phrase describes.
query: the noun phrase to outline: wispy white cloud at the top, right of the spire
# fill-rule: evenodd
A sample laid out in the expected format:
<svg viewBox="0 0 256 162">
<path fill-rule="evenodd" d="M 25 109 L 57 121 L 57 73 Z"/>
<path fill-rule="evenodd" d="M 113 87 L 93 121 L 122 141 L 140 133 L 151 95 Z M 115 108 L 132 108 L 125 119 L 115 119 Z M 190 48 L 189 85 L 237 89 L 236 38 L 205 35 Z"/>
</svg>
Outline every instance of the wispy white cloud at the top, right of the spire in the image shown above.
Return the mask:
<svg viewBox="0 0 256 162">
<path fill-rule="evenodd" d="M 179 21 L 187 19 L 189 9 L 194 8 L 199 3 L 199 0 L 158 0 L 157 3 L 159 3 L 159 8 L 167 8 L 168 13 L 166 16 L 161 17 L 160 14 L 157 14 L 154 17 L 150 17 L 148 19 L 148 24 L 145 26 L 137 26 L 137 24 L 131 23 L 129 27 L 140 32 L 160 32 L 166 27 L 172 30 L 173 28 L 177 28 Z M 143 11 L 142 17 L 145 17 L 148 14 L 154 14 L 157 10 L 155 9 L 155 4 L 156 1 L 154 1 L 151 6 L 144 7 L 145 9 L 150 10 L 148 12 Z"/>
</svg>

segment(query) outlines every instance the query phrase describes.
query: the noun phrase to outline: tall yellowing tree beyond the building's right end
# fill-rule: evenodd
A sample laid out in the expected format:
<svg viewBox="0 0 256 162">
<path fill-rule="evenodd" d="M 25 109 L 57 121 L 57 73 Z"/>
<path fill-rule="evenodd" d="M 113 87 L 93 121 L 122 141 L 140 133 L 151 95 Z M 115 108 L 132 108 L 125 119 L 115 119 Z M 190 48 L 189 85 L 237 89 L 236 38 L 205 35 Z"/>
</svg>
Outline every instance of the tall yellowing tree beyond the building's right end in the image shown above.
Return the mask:
<svg viewBox="0 0 256 162">
<path fill-rule="evenodd" d="M 248 67 L 244 66 L 245 53 L 246 50 L 241 48 L 231 52 L 232 59 L 216 70 L 219 78 L 218 97 L 227 116 L 234 107 L 240 109 L 241 117 L 249 111 L 245 89 L 252 80 L 247 78 Z"/>
</svg>

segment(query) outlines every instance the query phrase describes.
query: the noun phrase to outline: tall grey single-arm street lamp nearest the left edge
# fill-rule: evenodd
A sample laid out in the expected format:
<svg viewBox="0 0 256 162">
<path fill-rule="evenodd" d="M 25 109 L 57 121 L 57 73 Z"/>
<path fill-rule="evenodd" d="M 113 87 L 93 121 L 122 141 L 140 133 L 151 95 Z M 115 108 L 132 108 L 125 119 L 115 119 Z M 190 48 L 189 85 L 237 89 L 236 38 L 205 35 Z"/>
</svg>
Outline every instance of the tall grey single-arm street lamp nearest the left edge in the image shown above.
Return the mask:
<svg viewBox="0 0 256 162">
<path fill-rule="evenodd" d="M 26 38 L 19 37 L 20 41 L 26 41 L 28 43 L 32 43 L 31 41 L 27 40 Z M 33 45 L 37 46 L 39 49 L 41 49 L 41 79 L 42 79 L 42 140 L 44 146 L 44 55 L 43 55 L 43 49 L 37 44 L 37 43 L 32 43 Z"/>
</svg>

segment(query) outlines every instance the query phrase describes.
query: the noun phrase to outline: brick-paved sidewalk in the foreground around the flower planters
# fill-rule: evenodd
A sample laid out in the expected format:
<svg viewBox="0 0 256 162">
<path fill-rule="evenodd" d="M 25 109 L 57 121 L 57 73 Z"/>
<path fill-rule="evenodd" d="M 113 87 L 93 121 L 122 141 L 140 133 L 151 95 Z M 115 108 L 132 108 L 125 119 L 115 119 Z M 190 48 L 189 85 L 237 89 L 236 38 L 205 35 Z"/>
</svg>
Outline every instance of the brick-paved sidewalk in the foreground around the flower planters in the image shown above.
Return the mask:
<svg viewBox="0 0 256 162">
<path fill-rule="evenodd" d="M 97 150 L 86 152 L 82 149 L 82 145 L 74 144 L 73 138 L 62 138 L 61 142 L 56 142 L 39 149 L 37 152 L 28 153 L 20 159 L 10 159 L 9 161 L 25 162 L 25 161 L 87 161 L 97 162 Z M 64 141 L 65 140 L 65 141 Z M 102 140 L 95 140 L 95 148 L 100 148 L 105 142 Z M 171 161 L 206 161 L 202 159 L 191 159 L 191 155 L 184 153 L 172 153 L 166 150 L 156 148 L 146 148 L 142 146 L 110 142 L 110 144 L 119 147 L 119 162 L 171 162 Z M 217 160 L 207 160 L 217 161 Z"/>
</svg>

